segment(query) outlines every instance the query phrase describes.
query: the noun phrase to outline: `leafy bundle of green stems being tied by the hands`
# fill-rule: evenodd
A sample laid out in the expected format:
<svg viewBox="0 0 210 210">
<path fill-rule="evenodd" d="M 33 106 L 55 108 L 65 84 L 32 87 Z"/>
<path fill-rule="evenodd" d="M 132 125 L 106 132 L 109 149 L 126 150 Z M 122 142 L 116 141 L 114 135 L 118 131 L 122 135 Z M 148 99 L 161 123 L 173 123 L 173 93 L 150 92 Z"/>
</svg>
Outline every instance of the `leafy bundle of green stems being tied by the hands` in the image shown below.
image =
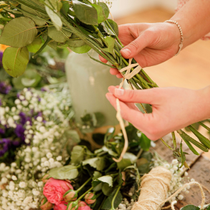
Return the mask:
<svg viewBox="0 0 210 210">
<path fill-rule="evenodd" d="M 118 26 L 108 18 L 109 8 L 100 0 L 5 0 L 1 2 L 0 10 L 0 23 L 4 25 L 0 43 L 11 46 L 4 52 L 3 66 L 12 76 L 24 72 L 29 52 L 35 53 L 35 56 L 46 45 L 69 47 L 77 53 L 86 53 L 93 49 L 108 61 L 108 64 L 103 63 L 104 65 L 112 68 L 114 66 L 118 70 L 129 65 L 129 61 L 120 54 L 124 46 L 118 38 Z M 40 47 L 34 52 L 37 43 L 40 43 Z M 20 62 L 22 60 L 24 62 Z M 135 63 L 133 59 L 132 64 Z M 133 70 L 131 68 L 131 71 Z M 143 69 L 128 79 L 128 83 L 138 90 L 158 87 Z M 205 124 L 200 124 L 210 130 Z M 177 132 L 189 149 L 199 155 L 193 144 L 207 152 L 210 149 L 210 140 L 193 126 L 190 125 L 188 128 L 195 134 L 197 140 L 183 129 Z M 178 147 L 174 132 L 172 137 L 172 147 L 163 139 L 161 141 L 173 151 L 182 164 L 185 164 L 182 143 Z"/>
</svg>

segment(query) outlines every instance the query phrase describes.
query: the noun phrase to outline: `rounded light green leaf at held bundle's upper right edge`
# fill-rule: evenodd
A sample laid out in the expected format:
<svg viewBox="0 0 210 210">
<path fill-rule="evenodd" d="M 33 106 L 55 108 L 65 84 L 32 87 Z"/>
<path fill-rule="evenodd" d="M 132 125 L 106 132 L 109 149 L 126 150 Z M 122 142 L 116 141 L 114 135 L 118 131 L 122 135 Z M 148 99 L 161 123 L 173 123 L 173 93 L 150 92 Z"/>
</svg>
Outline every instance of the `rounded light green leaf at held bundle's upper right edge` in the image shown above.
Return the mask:
<svg viewBox="0 0 210 210">
<path fill-rule="evenodd" d="M 98 14 L 98 23 L 104 22 L 109 17 L 109 7 L 104 2 L 98 2 L 92 5 Z"/>
</svg>

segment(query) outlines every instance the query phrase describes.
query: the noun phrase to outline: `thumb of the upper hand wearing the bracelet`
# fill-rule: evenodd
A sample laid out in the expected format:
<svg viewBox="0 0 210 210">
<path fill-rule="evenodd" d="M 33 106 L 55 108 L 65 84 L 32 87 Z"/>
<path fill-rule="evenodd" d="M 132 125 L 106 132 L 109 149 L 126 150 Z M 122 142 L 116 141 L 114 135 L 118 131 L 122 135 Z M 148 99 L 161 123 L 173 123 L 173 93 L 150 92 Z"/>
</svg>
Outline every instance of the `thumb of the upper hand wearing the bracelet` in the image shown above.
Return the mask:
<svg viewBox="0 0 210 210">
<path fill-rule="evenodd" d="M 148 45 L 148 37 L 142 33 L 135 40 L 126 45 L 120 52 L 124 58 L 133 58 Z"/>
</svg>

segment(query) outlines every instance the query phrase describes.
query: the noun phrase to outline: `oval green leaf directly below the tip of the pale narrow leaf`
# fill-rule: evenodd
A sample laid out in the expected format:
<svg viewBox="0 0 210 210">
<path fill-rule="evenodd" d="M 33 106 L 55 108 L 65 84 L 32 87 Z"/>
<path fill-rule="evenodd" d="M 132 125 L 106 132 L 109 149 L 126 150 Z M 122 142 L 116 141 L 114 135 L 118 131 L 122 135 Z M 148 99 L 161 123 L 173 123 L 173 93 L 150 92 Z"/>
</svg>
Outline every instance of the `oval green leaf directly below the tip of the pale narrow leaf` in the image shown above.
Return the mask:
<svg viewBox="0 0 210 210">
<path fill-rule="evenodd" d="M 48 27 L 48 36 L 56 42 L 65 42 L 72 35 L 71 32 L 62 29 L 58 31 L 55 27 Z"/>
</svg>

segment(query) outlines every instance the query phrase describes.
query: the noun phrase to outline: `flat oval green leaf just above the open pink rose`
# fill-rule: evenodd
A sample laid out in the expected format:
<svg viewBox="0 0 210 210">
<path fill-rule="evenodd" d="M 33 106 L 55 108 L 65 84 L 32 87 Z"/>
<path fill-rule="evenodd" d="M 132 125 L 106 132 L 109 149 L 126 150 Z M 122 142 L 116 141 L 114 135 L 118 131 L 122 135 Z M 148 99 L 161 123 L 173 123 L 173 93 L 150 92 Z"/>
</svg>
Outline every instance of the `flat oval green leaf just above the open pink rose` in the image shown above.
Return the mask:
<svg viewBox="0 0 210 210">
<path fill-rule="evenodd" d="M 75 179 L 79 172 L 76 166 L 67 165 L 59 168 L 53 168 L 49 171 L 49 175 L 54 179 Z"/>
</svg>

